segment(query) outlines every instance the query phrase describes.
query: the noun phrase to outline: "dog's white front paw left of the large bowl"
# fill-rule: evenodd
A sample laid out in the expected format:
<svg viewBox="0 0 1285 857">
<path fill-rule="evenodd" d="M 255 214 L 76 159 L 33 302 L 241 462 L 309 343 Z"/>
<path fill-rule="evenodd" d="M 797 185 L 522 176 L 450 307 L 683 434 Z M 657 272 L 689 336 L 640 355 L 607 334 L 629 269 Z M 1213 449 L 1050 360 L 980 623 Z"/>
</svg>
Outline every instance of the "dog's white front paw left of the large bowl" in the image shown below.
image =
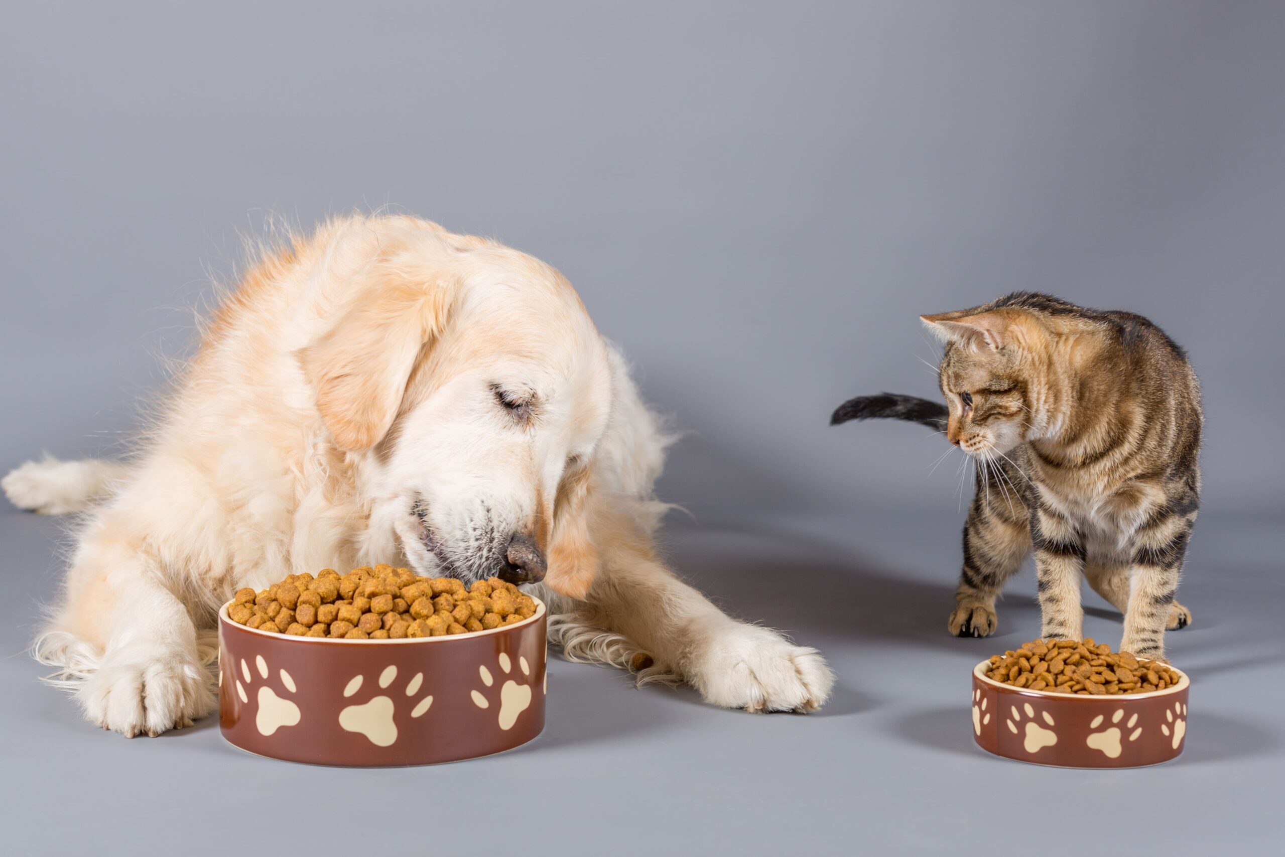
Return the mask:
<svg viewBox="0 0 1285 857">
<path fill-rule="evenodd" d="M 155 738 L 208 714 L 215 707 L 211 685 L 199 660 L 170 655 L 104 663 L 77 696 L 85 716 L 103 729 Z"/>
</svg>

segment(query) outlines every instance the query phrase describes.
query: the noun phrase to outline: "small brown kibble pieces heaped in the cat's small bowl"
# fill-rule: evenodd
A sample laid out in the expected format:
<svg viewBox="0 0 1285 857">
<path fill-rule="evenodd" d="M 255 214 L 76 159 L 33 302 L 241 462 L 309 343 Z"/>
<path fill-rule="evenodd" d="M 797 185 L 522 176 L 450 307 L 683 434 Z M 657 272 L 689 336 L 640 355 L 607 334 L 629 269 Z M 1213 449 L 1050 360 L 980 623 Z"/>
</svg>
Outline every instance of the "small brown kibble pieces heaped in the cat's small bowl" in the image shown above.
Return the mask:
<svg viewBox="0 0 1285 857">
<path fill-rule="evenodd" d="M 1086 640 L 1032 640 L 1022 648 L 991 655 L 987 678 L 1046 694 L 1145 694 L 1178 684 L 1178 673 L 1162 660 Z"/>
</svg>

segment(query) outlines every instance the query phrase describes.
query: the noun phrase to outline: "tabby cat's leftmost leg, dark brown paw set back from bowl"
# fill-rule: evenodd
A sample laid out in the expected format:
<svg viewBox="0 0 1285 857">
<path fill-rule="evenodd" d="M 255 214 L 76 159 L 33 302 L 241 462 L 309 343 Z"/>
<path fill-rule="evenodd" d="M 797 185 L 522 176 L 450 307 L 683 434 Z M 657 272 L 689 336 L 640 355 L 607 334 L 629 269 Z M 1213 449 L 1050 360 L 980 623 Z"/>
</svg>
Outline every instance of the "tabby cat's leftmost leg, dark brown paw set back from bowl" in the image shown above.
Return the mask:
<svg viewBox="0 0 1285 857">
<path fill-rule="evenodd" d="M 964 570 L 946 624 L 952 635 L 995 633 L 998 623 L 995 600 L 1031 552 L 1028 518 L 1025 506 L 1011 491 L 1001 491 L 993 482 L 989 487 L 978 484 L 964 524 Z"/>
</svg>

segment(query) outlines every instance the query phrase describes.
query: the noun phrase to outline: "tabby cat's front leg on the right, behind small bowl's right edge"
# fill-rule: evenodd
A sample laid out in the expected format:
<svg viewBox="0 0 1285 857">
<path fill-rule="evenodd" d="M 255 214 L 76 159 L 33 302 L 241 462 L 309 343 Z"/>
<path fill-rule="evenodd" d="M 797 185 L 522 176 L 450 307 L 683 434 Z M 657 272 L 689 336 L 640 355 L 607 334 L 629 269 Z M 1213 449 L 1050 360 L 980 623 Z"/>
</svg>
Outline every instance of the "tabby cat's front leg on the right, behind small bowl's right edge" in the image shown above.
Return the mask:
<svg viewBox="0 0 1285 857">
<path fill-rule="evenodd" d="M 1164 631 L 1173 627 L 1173 599 L 1191 538 L 1195 514 L 1169 514 L 1149 520 L 1133 536 L 1133 556 L 1124 637 L 1121 651 L 1141 658 L 1164 657 Z M 1180 608 L 1190 621 L 1186 608 Z M 1181 614 L 1180 614 L 1181 615 Z M 1183 622 L 1185 624 L 1186 622 Z M 1182 627 L 1181 624 L 1178 627 Z"/>
</svg>

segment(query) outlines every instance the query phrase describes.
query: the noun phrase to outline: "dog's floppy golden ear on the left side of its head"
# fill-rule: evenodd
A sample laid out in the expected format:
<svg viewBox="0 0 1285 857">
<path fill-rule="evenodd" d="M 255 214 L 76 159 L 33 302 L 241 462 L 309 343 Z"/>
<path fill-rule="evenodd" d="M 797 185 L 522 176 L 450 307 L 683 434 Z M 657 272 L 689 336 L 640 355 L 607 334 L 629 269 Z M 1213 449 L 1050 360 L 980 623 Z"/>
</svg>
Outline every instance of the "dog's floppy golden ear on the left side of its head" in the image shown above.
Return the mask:
<svg viewBox="0 0 1285 857">
<path fill-rule="evenodd" d="M 388 432 L 420 351 L 446 322 L 451 292 L 382 262 L 357 279 L 298 352 L 330 437 L 348 451 L 370 448 Z"/>
</svg>

